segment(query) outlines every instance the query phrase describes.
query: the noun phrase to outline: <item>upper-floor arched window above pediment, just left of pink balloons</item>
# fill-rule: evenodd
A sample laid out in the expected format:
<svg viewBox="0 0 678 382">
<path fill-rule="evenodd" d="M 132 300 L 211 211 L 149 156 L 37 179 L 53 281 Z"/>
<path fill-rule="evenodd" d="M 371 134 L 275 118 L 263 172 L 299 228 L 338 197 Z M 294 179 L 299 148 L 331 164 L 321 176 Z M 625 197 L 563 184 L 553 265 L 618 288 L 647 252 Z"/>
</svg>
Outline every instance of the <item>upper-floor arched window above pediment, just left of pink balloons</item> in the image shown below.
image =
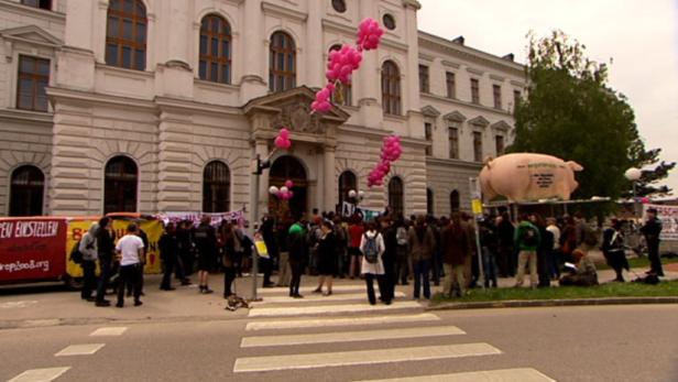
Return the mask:
<svg viewBox="0 0 678 382">
<path fill-rule="evenodd" d="M 269 88 L 283 91 L 296 86 L 296 46 L 285 32 L 271 35 Z"/>
</svg>

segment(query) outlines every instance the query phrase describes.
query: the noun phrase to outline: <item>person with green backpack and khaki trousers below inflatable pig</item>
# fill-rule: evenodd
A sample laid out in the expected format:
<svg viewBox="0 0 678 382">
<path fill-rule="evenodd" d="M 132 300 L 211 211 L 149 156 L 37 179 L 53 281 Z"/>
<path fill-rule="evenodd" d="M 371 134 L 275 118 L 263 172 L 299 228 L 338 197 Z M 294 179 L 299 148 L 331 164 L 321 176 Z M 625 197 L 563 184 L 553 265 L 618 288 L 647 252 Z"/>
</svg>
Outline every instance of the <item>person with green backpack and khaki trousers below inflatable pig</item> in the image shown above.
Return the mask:
<svg viewBox="0 0 678 382">
<path fill-rule="evenodd" d="M 529 286 L 537 286 L 537 249 L 542 238 L 539 229 L 529 222 L 527 215 L 521 216 L 518 227 L 515 230 L 514 242 L 518 249 L 518 272 L 515 276 L 515 286 L 523 286 L 525 279 L 525 265 L 529 264 Z"/>
</svg>

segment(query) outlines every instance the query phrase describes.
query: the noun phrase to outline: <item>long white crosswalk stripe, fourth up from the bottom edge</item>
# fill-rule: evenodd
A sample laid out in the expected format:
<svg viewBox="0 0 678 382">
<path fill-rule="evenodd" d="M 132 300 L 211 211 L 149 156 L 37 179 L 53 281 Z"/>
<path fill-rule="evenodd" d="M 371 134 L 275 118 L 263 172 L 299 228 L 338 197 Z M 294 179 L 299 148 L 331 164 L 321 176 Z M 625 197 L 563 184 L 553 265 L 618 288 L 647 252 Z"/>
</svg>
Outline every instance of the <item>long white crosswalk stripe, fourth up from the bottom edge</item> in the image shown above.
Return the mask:
<svg viewBox="0 0 678 382">
<path fill-rule="evenodd" d="M 253 321 L 248 323 L 245 330 L 274 330 L 274 329 L 302 329 L 302 328 L 322 328 L 337 326 L 363 326 L 363 325 L 385 325 L 385 324 L 407 324 L 439 321 L 440 317 L 422 313 L 417 315 L 394 315 L 376 317 L 351 317 L 351 318 L 319 318 L 319 319 L 286 319 L 274 321 Z"/>
</svg>

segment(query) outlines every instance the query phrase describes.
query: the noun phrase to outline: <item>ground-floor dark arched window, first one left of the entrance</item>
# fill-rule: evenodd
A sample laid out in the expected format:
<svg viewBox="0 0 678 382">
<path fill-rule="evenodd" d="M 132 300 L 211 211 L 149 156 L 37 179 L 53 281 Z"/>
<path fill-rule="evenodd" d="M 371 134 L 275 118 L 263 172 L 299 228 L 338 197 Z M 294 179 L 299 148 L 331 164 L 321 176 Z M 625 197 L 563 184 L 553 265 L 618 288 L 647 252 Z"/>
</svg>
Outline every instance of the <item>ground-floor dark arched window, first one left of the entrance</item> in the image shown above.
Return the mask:
<svg viewBox="0 0 678 382">
<path fill-rule="evenodd" d="M 231 206 L 231 174 L 219 161 L 209 162 L 203 173 L 203 211 L 226 212 Z"/>
</svg>

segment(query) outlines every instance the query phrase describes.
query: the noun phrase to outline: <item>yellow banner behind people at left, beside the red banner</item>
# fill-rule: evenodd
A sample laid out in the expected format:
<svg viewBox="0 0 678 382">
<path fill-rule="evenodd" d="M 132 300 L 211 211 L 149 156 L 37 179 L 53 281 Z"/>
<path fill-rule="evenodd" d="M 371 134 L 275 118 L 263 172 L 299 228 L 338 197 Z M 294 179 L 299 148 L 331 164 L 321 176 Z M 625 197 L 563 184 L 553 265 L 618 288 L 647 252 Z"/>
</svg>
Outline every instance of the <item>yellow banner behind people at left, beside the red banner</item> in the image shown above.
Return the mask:
<svg viewBox="0 0 678 382">
<path fill-rule="evenodd" d="M 68 233 L 66 237 L 66 272 L 72 277 L 81 277 L 83 269 L 79 264 L 74 263 L 68 259 L 70 257 L 70 251 L 75 243 L 83 238 L 87 230 L 91 226 L 92 222 L 97 220 L 87 220 L 87 219 L 74 219 L 68 221 Z M 116 242 L 118 239 L 122 238 L 127 231 L 127 227 L 130 223 L 130 220 L 125 219 L 114 219 L 113 220 L 113 231 L 116 236 Z M 163 226 L 160 220 L 141 220 L 139 221 L 139 227 L 146 233 L 149 239 L 149 250 L 146 251 L 146 264 L 144 266 L 144 273 L 161 273 L 161 261 L 160 261 L 160 249 L 157 247 L 157 242 L 160 241 L 160 237 L 163 234 Z"/>
</svg>

